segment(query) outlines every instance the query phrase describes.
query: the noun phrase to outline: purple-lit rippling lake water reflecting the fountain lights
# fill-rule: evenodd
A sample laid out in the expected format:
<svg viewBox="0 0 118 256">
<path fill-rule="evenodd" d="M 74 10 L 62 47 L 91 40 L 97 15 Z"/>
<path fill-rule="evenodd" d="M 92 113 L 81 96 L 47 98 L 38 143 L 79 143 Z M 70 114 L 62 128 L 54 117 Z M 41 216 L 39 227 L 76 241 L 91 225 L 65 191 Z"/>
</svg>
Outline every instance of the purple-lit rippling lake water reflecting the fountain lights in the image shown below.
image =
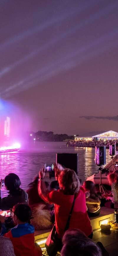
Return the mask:
<svg viewBox="0 0 118 256">
<path fill-rule="evenodd" d="M 0 178 L 14 172 L 21 180 L 21 187 L 27 189 L 44 163 L 56 162 L 56 153 L 78 153 L 78 175 L 82 181 L 98 170 L 94 162 L 95 148 L 66 147 L 65 142 L 35 142 L 19 152 L 0 155 Z M 110 160 L 109 149 L 106 149 L 106 163 Z M 6 195 L 3 186 L 1 197 Z"/>
</svg>

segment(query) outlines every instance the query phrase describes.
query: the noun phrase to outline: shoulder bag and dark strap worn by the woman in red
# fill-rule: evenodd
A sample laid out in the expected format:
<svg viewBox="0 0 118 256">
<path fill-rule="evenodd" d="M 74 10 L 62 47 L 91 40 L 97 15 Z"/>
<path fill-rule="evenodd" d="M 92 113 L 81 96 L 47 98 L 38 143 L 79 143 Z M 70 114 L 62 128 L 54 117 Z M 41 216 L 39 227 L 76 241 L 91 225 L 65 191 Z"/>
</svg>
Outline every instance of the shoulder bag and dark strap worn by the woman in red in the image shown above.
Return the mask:
<svg viewBox="0 0 118 256">
<path fill-rule="evenodd" d="M 76 195 L 74 195 L 73 204 L 72 204 L 69 216 L 68 216 L 67 223 L 65 225 L 64 233 L 69 228 L 71 214 L 73 211 L 75 199 L 76 199 Z M 64 235 L 64 233 L 63 233 L 63 235 Z M 57 252 L 62 249 L 62 239 L 58 238 L 58 236 L 57 236 L 55 224 L 54 224 L 53 229 L 51 230 L 49 236 L 47 237 L 45 247 L 46 247 L 46 250 L 47 250 L 47 253 L 49 256 L 55 256 L 57 254 Z"/>
</svg>

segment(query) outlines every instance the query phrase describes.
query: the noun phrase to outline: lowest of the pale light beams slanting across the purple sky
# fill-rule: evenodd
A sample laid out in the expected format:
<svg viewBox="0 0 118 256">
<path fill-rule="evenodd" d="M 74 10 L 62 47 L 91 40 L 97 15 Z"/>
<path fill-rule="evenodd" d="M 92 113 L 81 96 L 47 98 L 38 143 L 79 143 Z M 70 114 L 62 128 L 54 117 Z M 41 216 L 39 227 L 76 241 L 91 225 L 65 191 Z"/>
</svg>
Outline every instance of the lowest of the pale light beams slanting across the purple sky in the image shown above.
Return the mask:
<svg viewBox="0 0 118 256">
<path fill-rule="evenodd" d="M 116 35 L 117 30 L 113 32 L 111 31 L 111 33 L 107 33 L 101 38 L 94 40 L 92 43 L 87 45 L 85 44 L 82 48 L 75 50 L 75 52 L 70 53 L 68 56 L 65 56 L 63 61 L 59 60 L 52 65 L 47 63 L 47 66 L 44 66 L 37 72 L 25 77 L 16 84 L 2 91 L 1 95 L 8 97 L 9 95 L 18 93 L 19 91 L 32 87 L 34 82 L 37 83 L 45 81 L 64 69 L 67 70 L 73 68 L 76 65 L 83 63 L 83 61 L 109 50 L 112 46 L 117 46 L 118 41 L 115 40 Z"/>
</svg>

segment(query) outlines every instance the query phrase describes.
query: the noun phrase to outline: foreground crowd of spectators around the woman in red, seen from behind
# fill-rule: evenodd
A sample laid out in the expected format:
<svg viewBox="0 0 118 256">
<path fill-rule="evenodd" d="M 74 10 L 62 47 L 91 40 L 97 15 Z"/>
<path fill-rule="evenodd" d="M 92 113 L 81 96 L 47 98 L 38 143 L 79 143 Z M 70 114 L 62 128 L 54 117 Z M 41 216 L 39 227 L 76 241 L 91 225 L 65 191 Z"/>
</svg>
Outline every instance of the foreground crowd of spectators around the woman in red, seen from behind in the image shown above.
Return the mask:
<svg viewBox="0 0 118 256">
<path fill-rule="evenodd" d="M 94 206 L 96 201 L 100 205 L 94 184 L 82 186 L 75 171 L 64 169 L 60 164 L 54 164 L 54 171 L 55 181 L 49 184 L 45 182 L 43 166 L 28 185 L 27 192 L 20 188 L 16 174 L 5 177 L 9 195 L 0 197 L 0 256 L 42 256 L 40 246 L 35 244 L 35 230 L 39 229 L 52 229 L 45 244 L 49 256 L 55 256 L 58 250 L 62 256 L 71 256 L 74 251 L 78 256 L 88 252 L 91 256 L 107 255 L 102 244 L 91 240 L 89 213 L 91 209 L 92 213 L 93 209 L 94 213 L 100 212 L 100 206 L 97 209 Z M 2 186 L 1 179 L 0 191 Z M 93 206 L 89 209 L 91 199 Z M 3 210 L 8 210 L 11 217 L 6 218 Z"/>
</svg>

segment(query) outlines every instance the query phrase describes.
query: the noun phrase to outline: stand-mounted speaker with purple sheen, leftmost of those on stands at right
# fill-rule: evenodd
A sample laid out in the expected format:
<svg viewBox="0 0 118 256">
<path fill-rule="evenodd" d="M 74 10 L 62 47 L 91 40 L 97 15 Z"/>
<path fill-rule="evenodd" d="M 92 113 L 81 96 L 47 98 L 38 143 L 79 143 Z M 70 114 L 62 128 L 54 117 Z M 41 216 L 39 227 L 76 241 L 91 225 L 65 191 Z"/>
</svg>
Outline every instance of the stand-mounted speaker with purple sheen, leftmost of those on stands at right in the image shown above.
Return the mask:
<svg viewBox="0 0 118 256">
<path fill-rule="evenodd" d="M 95 147 L 95 163 L 96 165 L 106 164 L 106 147 Z"/>
</svg>

